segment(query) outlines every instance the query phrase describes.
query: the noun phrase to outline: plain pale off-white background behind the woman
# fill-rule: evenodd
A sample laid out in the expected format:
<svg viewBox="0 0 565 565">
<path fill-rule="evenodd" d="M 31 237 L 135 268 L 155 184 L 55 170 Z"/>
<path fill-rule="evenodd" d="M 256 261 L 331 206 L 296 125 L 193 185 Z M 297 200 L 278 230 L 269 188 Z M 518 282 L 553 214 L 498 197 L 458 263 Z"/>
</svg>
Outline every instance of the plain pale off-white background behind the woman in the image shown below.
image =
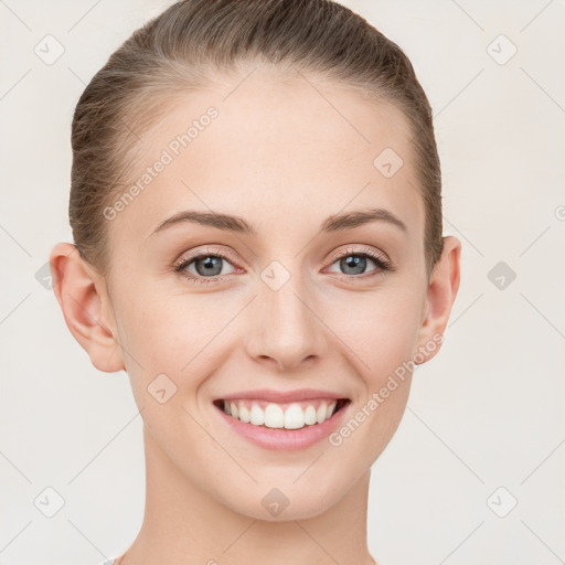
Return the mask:
<svg viewBox="0 0 565 565">
<path fill-rule="evenodd" d="M 4 565 L 97 564 L 141 524 L 141 418 L 127 375 L 93 367 L 36 273 L 72 241 L 74 106 L 170 3 L 0 0 Z M 463 244 L 444 348 L 417 369 L 373 466 L 370 550 L 381 565 L 565 563 L 565 3 L 343 3 L 412 60 L 436 115 L 445 233 Z M 46 34 L 65 50 L 51 65 L 34 53 Z M 500 273 L 489 278 L 499 262 L 516 275 L 503 274 L 502 289 Z M 47 487 L 65 500 L 51 519 L 40 511 L 55 500 Z"/>
</svg>

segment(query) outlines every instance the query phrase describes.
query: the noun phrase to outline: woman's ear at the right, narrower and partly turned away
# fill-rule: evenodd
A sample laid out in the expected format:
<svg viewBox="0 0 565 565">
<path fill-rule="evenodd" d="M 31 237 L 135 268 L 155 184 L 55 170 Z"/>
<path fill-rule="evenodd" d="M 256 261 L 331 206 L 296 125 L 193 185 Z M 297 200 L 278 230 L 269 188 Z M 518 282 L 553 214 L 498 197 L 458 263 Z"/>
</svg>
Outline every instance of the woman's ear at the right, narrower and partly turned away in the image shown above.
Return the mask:
<svg viewBox="0 0 565 565">
<path fill-rule="evenodd" d="M 448 235 L 444 237 L 444 252 L 429 277 L 426 303 L 418 337 L 418 352 L 424 358 L 416 364 L 434 358 L 440 349 L 439 335 L 444 335 L 460 280 L 461 242 Z M 431 348 L 431 343 L 434 347 Z M 438 347 L 439 345 L 439 347 Z"/>
</svg>

